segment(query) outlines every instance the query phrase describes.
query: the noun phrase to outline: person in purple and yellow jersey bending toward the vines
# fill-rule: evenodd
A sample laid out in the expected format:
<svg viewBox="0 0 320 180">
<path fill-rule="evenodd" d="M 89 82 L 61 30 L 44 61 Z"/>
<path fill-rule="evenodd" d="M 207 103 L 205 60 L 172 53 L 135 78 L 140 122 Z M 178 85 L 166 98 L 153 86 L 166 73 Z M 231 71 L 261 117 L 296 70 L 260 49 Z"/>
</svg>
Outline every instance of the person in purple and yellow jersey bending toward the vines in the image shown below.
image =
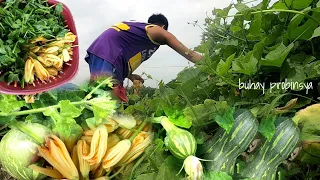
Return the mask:
<svg viewBox="0 0 320 180">
<path fill-rule="evenodd" d="M 125 78 L 144 80 L 133 72 L 148 60 L 161 45 L 168 45 L 187 60 L 196 63 L 202 56 L 188 49 L 168 30 L 168 20 L 163 14 L 153 14 L 148 22 L 123 21 L 99 35 L 87 49 L 90 79 L 112 76 L 116 82 L 115 95 L 127 102 L 123 81 Z"/>
</svg>

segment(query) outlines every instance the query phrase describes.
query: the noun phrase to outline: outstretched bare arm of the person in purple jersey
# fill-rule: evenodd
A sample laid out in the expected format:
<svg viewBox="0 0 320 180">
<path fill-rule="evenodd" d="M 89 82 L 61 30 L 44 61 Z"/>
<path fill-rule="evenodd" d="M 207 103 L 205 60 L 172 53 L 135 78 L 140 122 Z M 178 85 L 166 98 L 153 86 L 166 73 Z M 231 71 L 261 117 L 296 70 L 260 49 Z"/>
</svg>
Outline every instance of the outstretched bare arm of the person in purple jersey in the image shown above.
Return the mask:
<svg viewBox="0 0 320 180">
<path fill-rule="evenodd" d="M 153 41 L 159 44 L 166 44 L 189 61 L 196 63 L 202 59 L 202 56 L 195 51 L 183 45 L 173 34 L 165 29 L 155 26 L 148 28 L 148 33 Z"/>
</svg>

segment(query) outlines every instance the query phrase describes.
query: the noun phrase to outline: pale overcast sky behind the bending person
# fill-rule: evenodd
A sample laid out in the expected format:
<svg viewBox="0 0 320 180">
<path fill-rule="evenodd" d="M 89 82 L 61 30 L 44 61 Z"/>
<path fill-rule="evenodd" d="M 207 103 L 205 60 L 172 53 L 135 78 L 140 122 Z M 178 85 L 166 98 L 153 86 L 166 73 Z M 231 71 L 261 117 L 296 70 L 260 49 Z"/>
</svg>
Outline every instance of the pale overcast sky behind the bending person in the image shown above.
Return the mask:
<svg viewBox="0 0 320 180">
<path fill-rule="evenodd" d="M 71 10 L 78 32 L 80 68 L 72 83 L 80 84 L 89 79 L 89 67 L 84 61 L 86 49 L 109 26 L 124 20 L 147 21 L 153 13 L 163 13 L 169 21 L 169 31 L 189 48 L 200 44 L 199 27 L 187 22 L 198 20 L 203 26 L 206 13 L 225 8 L 231 0 L 60 0 Z M 134 73 L 145 72 L 156 80 L 168 82 L 189 63 L 168 46 L 159 50 Z M 192 65 L 192 64 L 190 64 Z M 147 80 L 146 86 L 157 86 L 157 81 Z"/>
</svg>

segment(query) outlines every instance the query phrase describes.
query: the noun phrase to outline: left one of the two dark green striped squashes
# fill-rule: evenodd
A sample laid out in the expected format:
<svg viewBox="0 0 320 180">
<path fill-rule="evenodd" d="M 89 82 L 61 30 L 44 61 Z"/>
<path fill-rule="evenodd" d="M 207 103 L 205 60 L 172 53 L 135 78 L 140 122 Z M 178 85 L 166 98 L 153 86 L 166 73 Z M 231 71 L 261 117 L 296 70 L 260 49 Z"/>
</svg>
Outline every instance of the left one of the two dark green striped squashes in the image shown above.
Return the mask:
<svg viewBox="0 0 320 180">
<path fill-rule="evenodd" d="M 235 122 L 227 133 L 220 128 L 214 137 L 199 147 L 199 154 L 204 154 L 207 161 L 205 167 L 209 171 L 222 171 L 234 174 L 238 156 L 241 155 L 255 138 L 259 122 L 247 109 L 237 110 Z"/>
</svg>

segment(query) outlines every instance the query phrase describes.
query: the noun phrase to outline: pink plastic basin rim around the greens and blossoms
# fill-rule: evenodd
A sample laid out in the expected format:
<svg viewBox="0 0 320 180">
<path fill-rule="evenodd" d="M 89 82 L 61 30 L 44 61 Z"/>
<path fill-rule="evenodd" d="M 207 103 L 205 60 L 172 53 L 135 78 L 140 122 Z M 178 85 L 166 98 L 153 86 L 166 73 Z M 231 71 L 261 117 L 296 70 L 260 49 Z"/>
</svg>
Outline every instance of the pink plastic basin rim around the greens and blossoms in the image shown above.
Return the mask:
<svg viewBox="0 0 320 180">
<path fill-rule="evenodd" d="M 48 0 L 49 5 L 54 5 L 60 3 L 55 0 Z M 67 28 L 70 29 L 70 31 L 77 36 L 76 26 L 71 14 L 71 11 L 69 8 L 65 5 L 63 5 L 63 12 L 62 15 L 65 19 L 65 24 L 68 26 Z M 59 86 L 62 86 L 63 84 L 68 83 L 70 80 L 72 80 L 77 72 L 79 67 L 79 47 L 78 47 L 78 36 L 76 38 L 76 41 L 73 43 L 73 55 L 71 56 L 72 60 L 70 60 L 68 63 L 69 65 L 64 64 L 63 65 L 63 73 L 56 76 L 54 79 L 50 78 L 49 81 L 46 83 L 43 83 L 41 81 L 35 80 L 33 86 L 32 84 L 25 84 L 24 88 L 22 88 L 20 85 L 17 85 L 14 87 L 14 83 L 11 83 L 8 85 L 7 82 L 0 82 L 0 93 L 3 94 L 14 94 L 14 95 L 30 95 L 30 94 L 37 94 L 44 91 L 48 91 L 54 88 L 57 88 Z"/>
</svg>

